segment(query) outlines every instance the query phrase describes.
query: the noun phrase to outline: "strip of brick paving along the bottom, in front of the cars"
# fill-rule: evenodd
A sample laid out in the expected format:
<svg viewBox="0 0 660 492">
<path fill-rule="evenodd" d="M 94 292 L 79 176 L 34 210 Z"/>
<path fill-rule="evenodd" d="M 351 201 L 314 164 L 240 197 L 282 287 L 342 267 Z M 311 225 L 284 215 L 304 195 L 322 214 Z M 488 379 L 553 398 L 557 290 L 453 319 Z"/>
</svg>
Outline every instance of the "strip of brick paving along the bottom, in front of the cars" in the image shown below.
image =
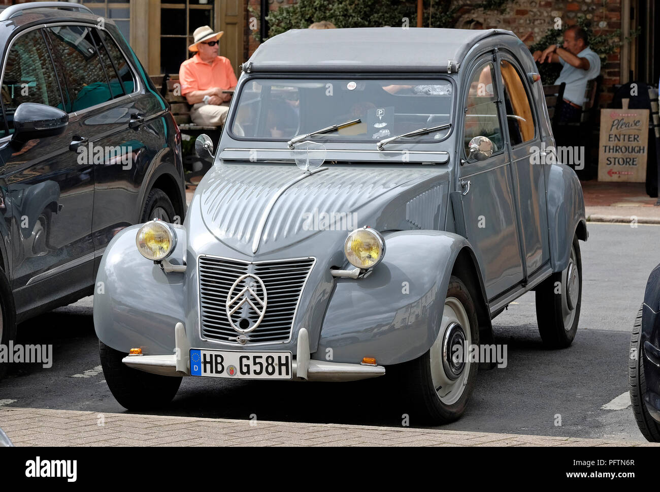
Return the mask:
<svg viewBox="0 0 660 492">
<path fill-rule="evenodd" d="M 607 439 L 0 408 L 15 446 L 660 446 Z"/>
</svg>

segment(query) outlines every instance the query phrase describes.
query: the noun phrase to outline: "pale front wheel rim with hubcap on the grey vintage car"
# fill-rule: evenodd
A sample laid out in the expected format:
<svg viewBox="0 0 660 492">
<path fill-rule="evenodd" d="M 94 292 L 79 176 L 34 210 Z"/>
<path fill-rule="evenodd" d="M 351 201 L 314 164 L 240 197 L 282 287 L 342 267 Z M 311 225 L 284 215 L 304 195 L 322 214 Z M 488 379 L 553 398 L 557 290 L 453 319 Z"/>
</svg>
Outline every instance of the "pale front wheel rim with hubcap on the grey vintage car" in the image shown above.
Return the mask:
<svg viewBox="0 0 660 492">
<path fill-rule="evenodd" d="M 465 308 L 461 301 L 455 297 L 448 297 L 445 300 L 445 308 L 442 312 L 440 332 L 438 332 L 438 337 L 436 337 L 436 341 L 434 341 L 430 349 L 431 379 L 433 381 L 433 387 L 436 389 L 438 398 L 440 398 L 440 401 L 445 405 L 453 405 L 459 400 L 459 398 L 461 398 L 463 392 L 465 392 L 465 386 L 467 386 L 467 380 L 471 369 L 471 361 L 469 357 L 466 357 L 469 355 L 467 349 L 460 353 L 460 356 L 463 357 L 463 369 L 457 378 L 453 379 L 455 375 L 452 376 L 447 374 L 444 367 L 443 361 L 445 359 L 443 345 L 446 345 L 445 335 L 447 334 L 447 329 L 453 324 L 458 324 L 462 328 L 465 337 L 463 346 L 469 348 L 472 344 L 470 319 L 467 316 L 467 312 L 465 312 Z M 451 353 L 452 355 L 455 355 L 457 352 L 453 350 Z"/>
</svg>

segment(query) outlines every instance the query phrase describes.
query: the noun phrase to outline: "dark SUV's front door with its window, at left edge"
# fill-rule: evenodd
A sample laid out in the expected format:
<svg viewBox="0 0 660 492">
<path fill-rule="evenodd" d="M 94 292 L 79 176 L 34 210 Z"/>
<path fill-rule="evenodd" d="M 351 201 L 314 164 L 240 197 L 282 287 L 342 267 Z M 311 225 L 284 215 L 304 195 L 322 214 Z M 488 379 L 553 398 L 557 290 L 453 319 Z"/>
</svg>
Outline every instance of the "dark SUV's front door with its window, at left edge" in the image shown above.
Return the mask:
<svg viewBox="0 0 660 492">
<path fill-rule="evenodd" d="M 8 134 L 23 102 L 65 109 L 51 55 L 42 29 L 21 32 L 11 41 L 2 80 Z M 79 162 L 71 150 L 79 133 L 80 123 L 69 114 L 61 135 L 32 139 L 20 149 L 9 144 L 9 136 L 0 144 L 19 314 L 92 284 L 94 176 L 91 164 Z"/>
</svg>

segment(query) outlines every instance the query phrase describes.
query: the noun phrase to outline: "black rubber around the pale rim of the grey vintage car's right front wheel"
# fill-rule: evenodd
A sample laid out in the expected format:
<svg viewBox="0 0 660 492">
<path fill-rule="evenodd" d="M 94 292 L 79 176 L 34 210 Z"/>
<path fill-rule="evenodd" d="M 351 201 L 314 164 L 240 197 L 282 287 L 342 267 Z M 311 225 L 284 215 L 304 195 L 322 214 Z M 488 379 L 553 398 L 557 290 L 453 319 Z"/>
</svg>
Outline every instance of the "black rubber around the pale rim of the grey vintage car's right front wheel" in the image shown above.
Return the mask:
<svg viewBox="0 0 660 492">
<path fill-rule="evenodd" d="M 450 298 L 459 300 L 463 305 L 470 324 L 470 343 L 479 345 L 479 323 L 475 303 L 465 284 L 453 275 L 449 279 L 449 288 L 447 289 L 447 299 Z M 444 333 L 441 330 L 438 340 L 442 339 L 443 336 Z M 436 343 L 438 340 L 436 340 Z M 463 369 L 468 371 L 467 383 L 463 384 L 462 393 L 458 393 L 459 398 L 451 404 L 443 402 L 435 388 L 431 372 L 431 351 L 433 349 L 434 347 L 431 347 L 426 353 L 413 361 L 387 368 L 388 378 L 392 384 L 397 386 L 397 393 L 401 399 L 399 404 L 405 405 L 401 409 L 405 413 L 409 413 L 413 425 L 416 423 L 442 425 L 459 419 L 465 412 L 467 402 L 477 381 L 479 363 L 469 363 Z M 442 364 L 440 370 L 444 370 Z M 461 372 L 461 374 L 463 373 Z M 407 409 L 409 410 L 407 411 Z"/>
</svg>

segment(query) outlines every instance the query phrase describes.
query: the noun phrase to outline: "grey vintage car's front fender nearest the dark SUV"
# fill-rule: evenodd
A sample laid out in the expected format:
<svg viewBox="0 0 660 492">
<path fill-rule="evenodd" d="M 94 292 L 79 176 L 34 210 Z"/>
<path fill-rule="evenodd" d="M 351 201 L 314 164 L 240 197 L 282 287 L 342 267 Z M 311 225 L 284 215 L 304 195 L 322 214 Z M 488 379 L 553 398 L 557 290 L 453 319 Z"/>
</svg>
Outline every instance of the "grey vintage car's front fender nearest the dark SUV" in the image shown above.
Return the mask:
<svg viewBox="0 0 660 492">
<path fill-rule="evenodd" d="M 185 273 L 165 273 L 135 246 L 140 225 L 127 227 L 108 244 L 94 287 L 94 328 L 98 339 L 121 352 L 173 353 L 174 326 L 185 322 Z M 176 250 L 169 260 L 182 264 L 185 230 L 175 227 Z M 145 316 L 145 312 L 149 316 Z"/>
</svg>

